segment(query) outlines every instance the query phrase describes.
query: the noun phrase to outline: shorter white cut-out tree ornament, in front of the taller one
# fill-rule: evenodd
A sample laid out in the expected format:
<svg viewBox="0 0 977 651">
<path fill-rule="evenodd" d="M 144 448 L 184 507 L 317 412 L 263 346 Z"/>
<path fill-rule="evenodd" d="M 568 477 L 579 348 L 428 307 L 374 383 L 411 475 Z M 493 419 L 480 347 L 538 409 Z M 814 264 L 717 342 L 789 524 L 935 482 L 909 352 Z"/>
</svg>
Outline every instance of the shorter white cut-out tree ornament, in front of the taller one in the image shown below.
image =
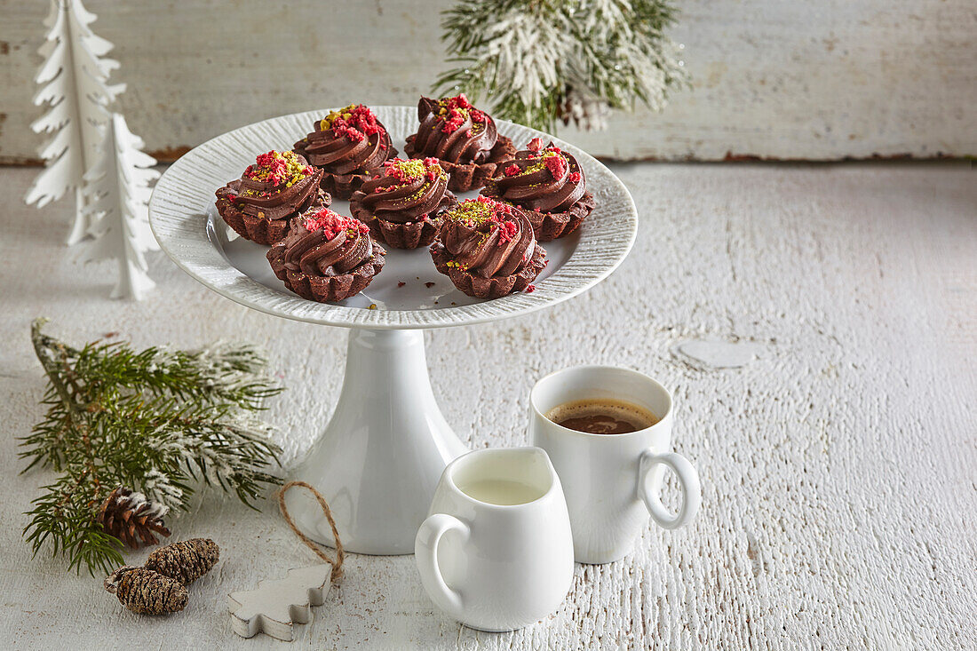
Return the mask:
<svg viewBox="0 0 977 651">
<path fill-rule="evenodd" d="M 87 202 L 83 216 L 96 238 L 87 260 L 117 260 L 119 278 L 112 298 L 142 300 L 155 286 L 147 275 L 146 251 L 159 250 L 149 230 L 150 185 L 159 177 L 155 158 L 141 152 L 143 139 L 133 135 L 125 118 L 112 113 L 98 162 L 85 174 Z"/>
</svg>

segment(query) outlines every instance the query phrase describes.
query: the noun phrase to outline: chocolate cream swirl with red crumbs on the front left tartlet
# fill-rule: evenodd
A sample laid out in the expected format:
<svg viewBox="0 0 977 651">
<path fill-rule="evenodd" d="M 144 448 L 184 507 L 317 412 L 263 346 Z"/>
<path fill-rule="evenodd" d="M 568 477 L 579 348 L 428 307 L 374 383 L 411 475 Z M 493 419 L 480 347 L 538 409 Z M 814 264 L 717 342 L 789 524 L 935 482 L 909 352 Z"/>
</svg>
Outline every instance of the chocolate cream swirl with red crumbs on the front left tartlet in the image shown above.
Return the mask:
<svg viewBox="0 0 977 651">
<path fill-rule="evenodd" d="M 285 269 L 307 276 L 348 274 L 373 256 L 366 225 L 328 208 L 300 216 L 282 245 Z"/>
</svg>

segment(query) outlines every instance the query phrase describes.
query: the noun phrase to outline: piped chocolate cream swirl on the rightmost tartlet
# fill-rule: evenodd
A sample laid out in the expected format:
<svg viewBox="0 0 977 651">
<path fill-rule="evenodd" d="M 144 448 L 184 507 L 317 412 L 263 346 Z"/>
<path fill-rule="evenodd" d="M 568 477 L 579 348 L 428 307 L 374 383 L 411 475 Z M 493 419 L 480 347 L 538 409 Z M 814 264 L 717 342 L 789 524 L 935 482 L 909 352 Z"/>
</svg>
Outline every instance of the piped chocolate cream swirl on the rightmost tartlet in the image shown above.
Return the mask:
<svg viewBox="0 0 977 651">
<path fill-rule="evenodd" d="M 489 181 L 482 194 L 530 210 L 569 210 L 587 191 L 583 170 L 572 153 L 553 143 L 545 149 L 539 145 L 539 139 L 533 139 L 529 149 L 516 152 L 516 157 L 503 167 L 502 176 Z"/>
</svg>

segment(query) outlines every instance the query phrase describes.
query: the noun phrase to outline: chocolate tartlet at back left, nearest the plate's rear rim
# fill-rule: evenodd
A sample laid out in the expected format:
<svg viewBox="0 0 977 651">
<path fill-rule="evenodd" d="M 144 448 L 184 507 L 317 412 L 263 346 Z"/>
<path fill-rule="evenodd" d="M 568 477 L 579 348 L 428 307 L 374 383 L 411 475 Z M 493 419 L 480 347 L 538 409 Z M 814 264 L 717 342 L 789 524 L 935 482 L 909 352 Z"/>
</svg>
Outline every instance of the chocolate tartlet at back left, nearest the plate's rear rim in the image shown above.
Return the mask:
<svg viewBox="0 0 977 651">
<path fill-rule="evenodd" d="M 322 189 L 336 198 L 350 198 L 384 160 L 397 155 L 387 128 L 361 104 L 330 111 L 314 128 L 295 143 L 295 152 L 322 168 Z"/>
</svg>

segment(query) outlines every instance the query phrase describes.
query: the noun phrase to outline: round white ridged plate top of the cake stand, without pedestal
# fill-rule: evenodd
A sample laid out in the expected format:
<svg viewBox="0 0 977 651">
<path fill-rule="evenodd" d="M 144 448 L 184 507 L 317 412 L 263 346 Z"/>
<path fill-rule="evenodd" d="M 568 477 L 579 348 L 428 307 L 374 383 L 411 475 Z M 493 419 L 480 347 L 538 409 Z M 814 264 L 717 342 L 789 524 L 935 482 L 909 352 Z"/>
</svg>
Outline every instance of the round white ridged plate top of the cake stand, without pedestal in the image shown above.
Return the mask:
<svg viewBox="0 0 977 651">
<path fill-rule="evenodd" d="M 417 127 L 411 107 L 371 107 L 394 147 Z M 522 149 L 531 138 L 552 140 L 576 156 L 597 207 L 572 236 L 543 244 L 549 264 L 535 290 L 493 300 L 471 298 L 439 274 L 427 248 L 387 247 L 387 262 L 366 289 L 337 303 L 308 301 L 276 279 L 267 246 L 238 238 L 217 214 L 214 192 L 240 177 L 261 152 L 290 150 L 329 109 L 282 115 L 234 129 L 194 148 L 163 174 L 149 200 L 149 224 L 160 247 L 185 272 L 219 294 L 279 317 L 324 325 L 420 328 L 477 324 L 514 317 L 571 298 L 601 282 L 621 263 L 638 230 L 624 184 L 593 156 L 535 129 L 496 120 L 499 133 Z M 460 198 L 478 193 L 462 193 Z M 348 215 L 347 201 L 330 206 Z M 373 307 L 371 307 L 373 306 Z"/>
</svg>

